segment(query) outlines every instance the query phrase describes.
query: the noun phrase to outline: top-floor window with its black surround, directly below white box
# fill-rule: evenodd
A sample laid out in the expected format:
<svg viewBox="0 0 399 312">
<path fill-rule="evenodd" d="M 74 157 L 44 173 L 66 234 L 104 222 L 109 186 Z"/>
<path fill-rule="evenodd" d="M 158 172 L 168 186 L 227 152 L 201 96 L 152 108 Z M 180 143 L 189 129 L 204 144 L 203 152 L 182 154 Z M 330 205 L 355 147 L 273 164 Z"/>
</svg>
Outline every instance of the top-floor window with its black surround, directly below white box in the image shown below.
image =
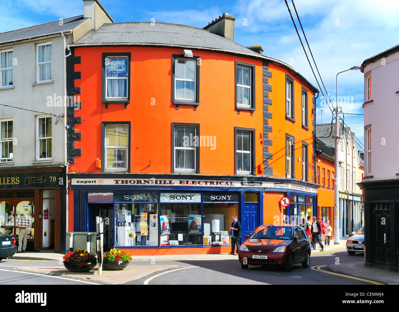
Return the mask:
<svg viewBox="0 0 399 312">
<path fill-rule="evenodd" d="M 199 57 L 173 55 L 173 103 L 199 103 Z"/>
</svg>

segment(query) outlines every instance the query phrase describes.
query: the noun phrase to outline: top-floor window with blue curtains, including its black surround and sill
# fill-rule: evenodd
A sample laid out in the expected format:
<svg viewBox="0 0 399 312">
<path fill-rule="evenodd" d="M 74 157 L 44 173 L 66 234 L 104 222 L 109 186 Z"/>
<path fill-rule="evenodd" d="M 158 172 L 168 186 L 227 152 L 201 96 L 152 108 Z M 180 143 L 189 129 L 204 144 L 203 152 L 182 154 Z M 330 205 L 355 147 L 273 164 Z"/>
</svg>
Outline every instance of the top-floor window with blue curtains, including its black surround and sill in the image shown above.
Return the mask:
<svg viewBox="0 0 399 312">
<path fill-rule="evenodd" d="M 130 53 L 103 53 L 103 103 L 130 102 L 129 86 Z"/>
</svg>

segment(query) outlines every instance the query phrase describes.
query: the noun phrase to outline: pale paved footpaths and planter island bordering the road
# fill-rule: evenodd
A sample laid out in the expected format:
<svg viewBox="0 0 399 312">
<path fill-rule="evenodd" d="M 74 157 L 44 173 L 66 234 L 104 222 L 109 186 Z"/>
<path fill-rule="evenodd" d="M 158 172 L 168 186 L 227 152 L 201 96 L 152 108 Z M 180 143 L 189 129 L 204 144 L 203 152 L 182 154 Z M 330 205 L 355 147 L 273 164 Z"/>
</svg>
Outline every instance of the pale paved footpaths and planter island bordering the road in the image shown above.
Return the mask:
<svg viewBox="0 0 399 312">
<path fill-rule="evenodd" d="M 345 251 L 346 239 L 340 239 L 339 245 L 331 244 L 329 247 L 325 246 L 324 251 L 316 244 L 316 250 L 312 250 L 312 255 L 322 255 L 332 253 L 335 251 Z M 59 261 L 62 264 L 63 254 L 52 252 L 26 252 L 16 253 L 9 259 L 15 260 L 53 260 Z M 208 255 L 159 255 L 159 256 L 132 256 L 132 261 L 150 262 L 150 265 L 128 265 L 121 271 L 103 271 L 102 275 L 97 274 L 97 267 L 87 273 L 72 273 L 59 266 L 35 266 L 35 267 L 18 267 L 18 271 L 25 271 L 31 273 L 39 273 L 45 275 L 57 275 L 66 278 L 80 279 L 91 281 L 93 283 L 101 284 L 124 284 L 137 279 L 141 279 L 147 275 L 152 275 L 156 272 L 166 271 L 178 267 L 178 265 L 158 265 L 160 261 L 195 261 L 195 260 L 238 260 L 238 256 L 227 254 L 208 254 Z M 328 265 L 326 270 L 367 279 L 382 284 L 399 285 L 399 273 L 389 271 L 387 269 L 365 267 L 363 262 L 356 263 L 342 263 L 337 265 Z"/>
</svg>

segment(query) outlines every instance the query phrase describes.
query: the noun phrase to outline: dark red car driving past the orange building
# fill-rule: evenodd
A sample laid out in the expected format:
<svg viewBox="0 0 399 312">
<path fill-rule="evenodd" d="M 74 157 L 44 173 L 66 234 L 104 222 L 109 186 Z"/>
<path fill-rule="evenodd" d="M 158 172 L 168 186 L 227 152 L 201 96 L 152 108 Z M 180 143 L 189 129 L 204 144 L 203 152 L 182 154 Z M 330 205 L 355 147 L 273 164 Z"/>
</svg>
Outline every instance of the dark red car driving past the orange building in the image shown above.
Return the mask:
<svg viewBox="0 0 399 312">
<path fill-rule="evenodd" d="M 292 224 L 259 226 L 239 248 L 238 258 L 243 269 L 248 265 L 275 264 L 291 272 L 292 265 L 310 265 L 310 241 L 305 230 Z"/>
</svg>

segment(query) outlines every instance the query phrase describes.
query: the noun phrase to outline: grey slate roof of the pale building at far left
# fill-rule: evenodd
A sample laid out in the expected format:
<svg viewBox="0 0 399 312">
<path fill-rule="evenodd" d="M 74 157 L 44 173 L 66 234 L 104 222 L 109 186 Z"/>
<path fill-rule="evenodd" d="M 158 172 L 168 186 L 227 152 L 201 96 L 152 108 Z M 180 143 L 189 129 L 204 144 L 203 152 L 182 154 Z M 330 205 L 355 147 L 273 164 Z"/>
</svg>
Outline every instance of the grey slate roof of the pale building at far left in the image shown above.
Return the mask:
<svg viewBox="0 0 399 312">
<path fill-rule="evenodd" d="M 89 18 L 84 18 L 83 15 L 79 15 L 72 18 L 65 18 L 63 20 L 63 25 L 59 25 L 60 21 L 58 20 L 46 24 L 7 31 L 0 33 L 0 44 L 41 37 L 51 33 L 61 33 L 61 31 L 73 30 L 85 22 L 85 20 L 89 20 Z"/>
</svg>

